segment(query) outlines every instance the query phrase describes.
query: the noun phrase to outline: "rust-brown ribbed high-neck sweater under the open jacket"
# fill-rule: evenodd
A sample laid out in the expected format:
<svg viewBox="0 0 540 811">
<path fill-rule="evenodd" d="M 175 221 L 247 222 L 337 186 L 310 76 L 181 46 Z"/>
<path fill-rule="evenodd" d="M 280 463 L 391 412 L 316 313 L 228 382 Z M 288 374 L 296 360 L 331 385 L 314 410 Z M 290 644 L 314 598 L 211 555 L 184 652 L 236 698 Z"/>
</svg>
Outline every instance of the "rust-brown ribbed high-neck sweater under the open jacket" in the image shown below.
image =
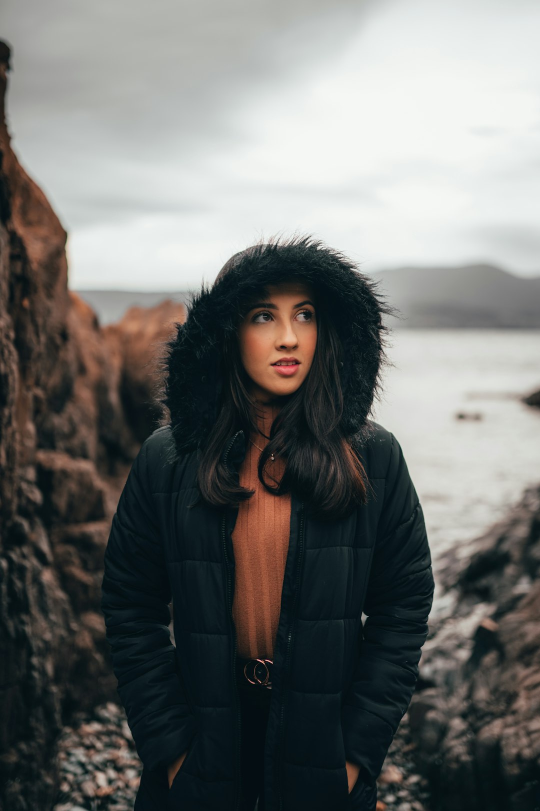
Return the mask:
<svg viewBox="0 0 540 811">
<path fill-rule="evenodd" d="M 266 436 L 270 436 L 277 414 L 279 406 L 266 406 L 257 420 Z M 252 434 L 250 439 L 264 448 L 266 436 Z M 291 524 L 291 494 L 274 496 L 265 490 L 257 476 L 260 455 L 261 451 L 248 441 L 239 471 L 240 484 L 255 493 L 240 504 L 232 531 L 236 563 L 232 616 L 238 655 L 244 659 L 273 659 Z M 279 481 L 284 467 L 283 459 L 276 457 L 268 461 L 266 470 Z M 266 480 L 271 483 L 268 474 Z"/>
</svg>

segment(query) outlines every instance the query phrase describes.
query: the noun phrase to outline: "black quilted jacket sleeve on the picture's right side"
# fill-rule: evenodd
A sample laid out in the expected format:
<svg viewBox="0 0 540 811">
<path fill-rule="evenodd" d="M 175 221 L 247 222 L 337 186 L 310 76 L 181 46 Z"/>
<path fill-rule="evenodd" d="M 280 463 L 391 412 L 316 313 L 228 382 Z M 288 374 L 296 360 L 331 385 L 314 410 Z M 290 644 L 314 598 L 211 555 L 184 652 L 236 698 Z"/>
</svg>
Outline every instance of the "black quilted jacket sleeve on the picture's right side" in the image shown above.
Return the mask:
<svg viewBox="0 0 540 811">
<path fill-rule="evenodd" d="M 360 766 L 359 775 L 372 784 L 415 689 L 434 591 L 422 507 L 401 445 L 393 434 L 391 439 L 364 603 L 367 619 L 342 704 L 347 761 Z"/>
</svg>

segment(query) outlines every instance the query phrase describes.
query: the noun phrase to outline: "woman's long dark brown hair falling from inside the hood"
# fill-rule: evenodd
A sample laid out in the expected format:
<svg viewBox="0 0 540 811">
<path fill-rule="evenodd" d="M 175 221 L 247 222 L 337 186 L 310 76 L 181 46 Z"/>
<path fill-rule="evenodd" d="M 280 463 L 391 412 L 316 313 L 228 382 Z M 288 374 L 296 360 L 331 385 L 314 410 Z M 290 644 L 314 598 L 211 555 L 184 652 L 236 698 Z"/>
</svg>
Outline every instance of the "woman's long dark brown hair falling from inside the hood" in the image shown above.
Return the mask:
<svg viewBox="0 0 540 811">
<path fill-rule="evenodd" d="M 229 260 L 220 276 L 230 270 L 239 256 Z M 242 303 L 236 327 L 249 311 L 250 303 L 266 300 L 268 291 L 261 287 L 259 294 L 261 298 Z M 274 399 L 281 408 L 271 425 L 270 441 L 261 451 L 257 471 L 267 491 L 279 496 L 294 490 L 308 503 L 314 517 L 330 520 L 345 517 L 355 506 L 365 504 L 370 485 L 355 448 L 339 430 L 343 407 L 338 373 L 343 363 L 342 342 L 317 291 L 315 306 L 317 345 L 312 367 L 296 392 Z M 243 429 L 246 441 L 251 431 L 257 431 L 249 377 L 240 359 L 235 333 L 227 332 L 224 336 L 221 362 L 224 384 L 219 418 L 202 448 L 198 464 L 202 498 L 215 506 L 237 505 L 255 492 L 240 487 L 237 477 L 220 461 L 224 444 L 235 431 Z M 271 466 L 266 468 L 272 453 L 286 460 L 280 481 L 270 474 Z"/>
</svg>

